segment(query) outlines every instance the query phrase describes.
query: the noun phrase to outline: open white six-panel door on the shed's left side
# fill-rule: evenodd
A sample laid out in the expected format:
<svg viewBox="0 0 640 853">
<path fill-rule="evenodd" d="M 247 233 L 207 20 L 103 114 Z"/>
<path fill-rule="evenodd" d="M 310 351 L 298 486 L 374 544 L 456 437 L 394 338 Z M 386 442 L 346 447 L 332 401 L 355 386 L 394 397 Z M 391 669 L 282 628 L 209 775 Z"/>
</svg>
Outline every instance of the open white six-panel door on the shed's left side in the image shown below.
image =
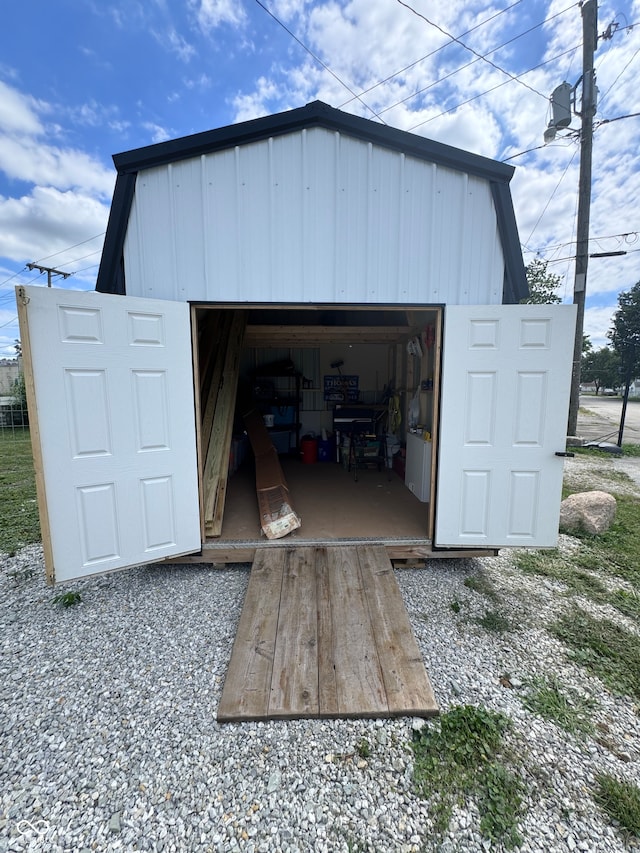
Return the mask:
<svg viewBox="0 0 640 853">
<path fill-rule="evenodd" d="M 198 550 L 189 306 L 41 287 L 18 301 L 48 576 Z"/>
</svg>

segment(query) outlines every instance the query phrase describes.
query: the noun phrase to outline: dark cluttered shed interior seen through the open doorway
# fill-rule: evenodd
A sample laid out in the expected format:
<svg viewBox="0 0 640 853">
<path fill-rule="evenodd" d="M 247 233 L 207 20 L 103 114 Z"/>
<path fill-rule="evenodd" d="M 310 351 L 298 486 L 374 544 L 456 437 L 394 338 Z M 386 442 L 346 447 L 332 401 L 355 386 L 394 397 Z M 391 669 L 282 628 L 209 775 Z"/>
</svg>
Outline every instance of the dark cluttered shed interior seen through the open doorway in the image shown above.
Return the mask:
<svg viewBox="0 0 640 853">
<path fill-rule="evenodd" d="M 400 555 L 431 541 L 441 320 L 439 306 L 192 306 L 203 543 L 216 559 L 265 544 L 252 410 L 302 522 L 269 544 L 364 540 Z"/>
</svg>

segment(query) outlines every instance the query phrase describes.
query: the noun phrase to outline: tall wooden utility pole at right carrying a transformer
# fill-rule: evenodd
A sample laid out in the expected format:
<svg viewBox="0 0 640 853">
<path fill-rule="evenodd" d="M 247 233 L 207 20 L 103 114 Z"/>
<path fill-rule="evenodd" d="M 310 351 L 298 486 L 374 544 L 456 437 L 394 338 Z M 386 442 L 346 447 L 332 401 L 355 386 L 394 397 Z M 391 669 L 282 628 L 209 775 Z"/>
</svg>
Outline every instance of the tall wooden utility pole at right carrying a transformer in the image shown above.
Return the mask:
<svg viewBox="0 0 640 853">
<path fill-rule="evenodd" d="M 582 4 L 582 120 L 580 132 L 580 178 L 578 182 L 578 222 L 576 227 L 576 270 L 573 302 L 578 306 L 576 336 L 573 347 L 571 396 L 569 399 L 568 435 L 575 435 L 580 407 L 580 363 L 584 333 L 584 303 L 589 264 L 589 216 L 591 211 L 591 154 L 593 147 L 593 116 L 596 112 L 596 83 L 593 56 L 598 43 L 598 2 Z M 577 112 L 577 110 L 576 110 Z"/>
</svg>

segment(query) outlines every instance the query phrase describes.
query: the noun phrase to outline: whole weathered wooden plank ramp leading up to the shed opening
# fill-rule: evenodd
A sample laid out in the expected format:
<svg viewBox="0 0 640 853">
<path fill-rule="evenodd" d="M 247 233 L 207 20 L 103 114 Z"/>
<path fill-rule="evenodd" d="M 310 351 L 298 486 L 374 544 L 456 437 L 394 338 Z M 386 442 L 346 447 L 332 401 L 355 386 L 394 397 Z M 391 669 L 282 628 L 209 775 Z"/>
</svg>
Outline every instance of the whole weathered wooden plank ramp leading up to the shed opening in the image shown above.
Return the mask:
<svg viewBox="0 0 640 853">
<path fill-rule="evenodd" d="M 437 713 L 384 548 L 258 551 L 218 722 Z"/>
</svg>

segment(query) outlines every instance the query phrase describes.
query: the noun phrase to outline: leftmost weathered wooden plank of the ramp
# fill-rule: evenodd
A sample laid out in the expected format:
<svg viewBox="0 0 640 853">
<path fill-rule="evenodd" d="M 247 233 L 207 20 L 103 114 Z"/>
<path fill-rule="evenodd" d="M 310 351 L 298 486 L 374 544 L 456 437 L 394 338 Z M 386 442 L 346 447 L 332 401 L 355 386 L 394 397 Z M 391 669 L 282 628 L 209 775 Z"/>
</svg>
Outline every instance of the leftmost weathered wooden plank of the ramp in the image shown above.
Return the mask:
<svg viewBox="0 0 640 853">
<path fill-rule="evenodd" d="M 260 551 L 251 569 L 218 722 L 265 719 L 273 673 L 285 551 Z"/>
</svg>

